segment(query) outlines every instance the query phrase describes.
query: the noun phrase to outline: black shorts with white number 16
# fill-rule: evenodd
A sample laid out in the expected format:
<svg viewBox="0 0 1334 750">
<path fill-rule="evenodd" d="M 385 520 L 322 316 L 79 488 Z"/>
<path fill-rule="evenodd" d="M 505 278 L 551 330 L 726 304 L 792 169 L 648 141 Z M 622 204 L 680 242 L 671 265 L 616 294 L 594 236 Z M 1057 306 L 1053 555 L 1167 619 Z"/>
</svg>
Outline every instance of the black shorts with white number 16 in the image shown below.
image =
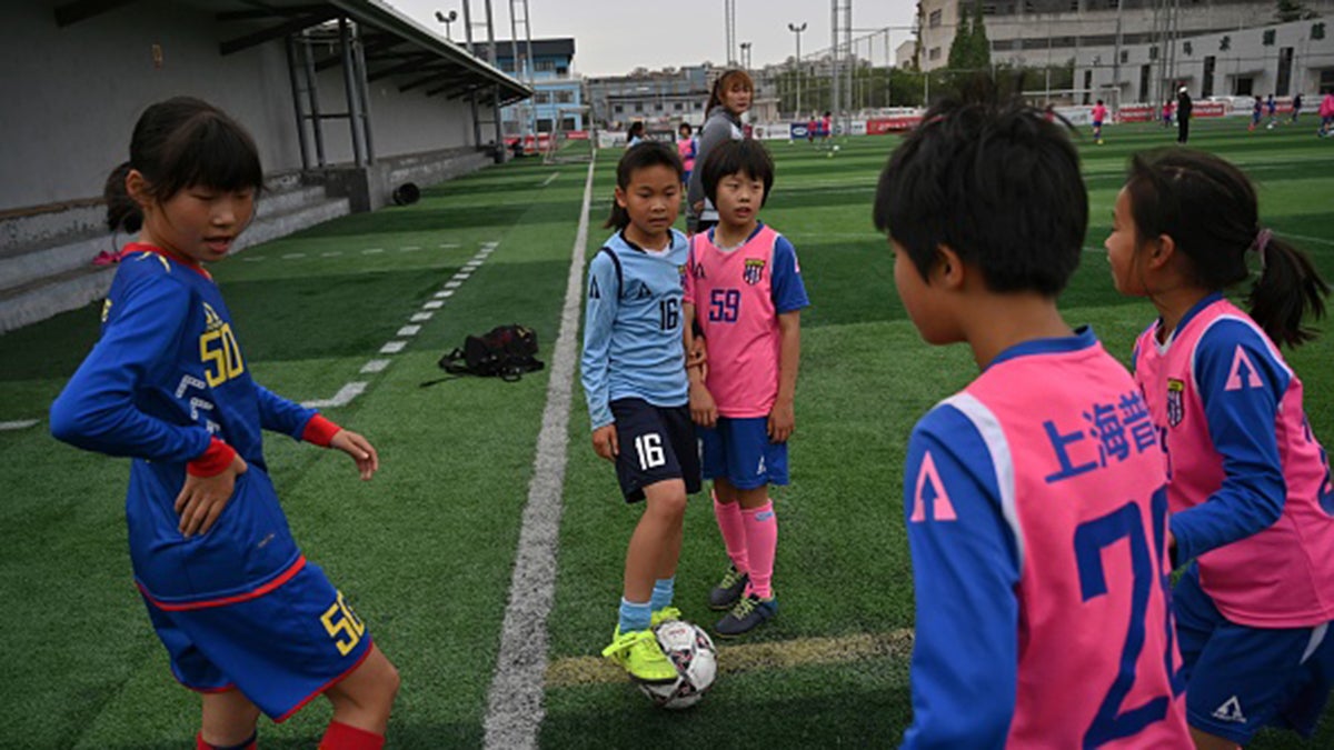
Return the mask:
<svg viewBox="0 0 1334 750">
<path fill-rule="evenodd" d="M 683 479 L 686 494 L 699 491 L 699 443 L 688 406 L 654 406 L 643 399 L 611 402 L 616 420 L 616 479 L 627 503 L 644 499 L 644 487 Z"/>
</svg>

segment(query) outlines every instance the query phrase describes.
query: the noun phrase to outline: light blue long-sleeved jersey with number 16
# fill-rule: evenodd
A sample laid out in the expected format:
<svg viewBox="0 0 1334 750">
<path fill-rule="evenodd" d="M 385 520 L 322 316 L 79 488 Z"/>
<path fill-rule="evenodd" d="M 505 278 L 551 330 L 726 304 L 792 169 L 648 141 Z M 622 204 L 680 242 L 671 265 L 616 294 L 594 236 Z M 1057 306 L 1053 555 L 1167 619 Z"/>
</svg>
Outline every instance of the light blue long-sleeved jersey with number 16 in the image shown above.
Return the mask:
<svg viewBox="0 0 1334 750">
<path fill-rule="evenodd" d="M 612 258 L 612 255 L 615 258 Z M 682 296 L 690 243 L 671 231 L 666 254 L 651 254 L 618 232 L 588 263 L 580 362 L 592 428 L 612 423 L 611 402 L 688 402 L 682 344 Z"/>
</svg>

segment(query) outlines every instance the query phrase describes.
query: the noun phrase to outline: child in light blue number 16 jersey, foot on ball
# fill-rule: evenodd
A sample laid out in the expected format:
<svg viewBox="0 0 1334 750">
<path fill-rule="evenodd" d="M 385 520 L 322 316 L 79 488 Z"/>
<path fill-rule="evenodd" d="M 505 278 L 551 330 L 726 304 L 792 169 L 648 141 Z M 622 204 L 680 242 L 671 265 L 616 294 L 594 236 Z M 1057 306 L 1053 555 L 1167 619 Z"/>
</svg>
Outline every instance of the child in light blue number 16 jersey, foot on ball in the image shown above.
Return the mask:
<svg viewBox="0 0 1334 750">
<path fill-rule="evenodd" d="M 672 228 L 680 181 L 671 145 L 646 141 L 622 156 L 607 220 L 618 231 L 588 263 L 584 315 L 592 447 L 616 464 L 626 502 L 644 500 L 626 551 L 616 631 L 603 655 L 643 682 L 676 679 L 650 627 L 680 614 L 671 603 L 686 495 L 700 486 L 682 332 L 690 247 Z"/>
</svg>

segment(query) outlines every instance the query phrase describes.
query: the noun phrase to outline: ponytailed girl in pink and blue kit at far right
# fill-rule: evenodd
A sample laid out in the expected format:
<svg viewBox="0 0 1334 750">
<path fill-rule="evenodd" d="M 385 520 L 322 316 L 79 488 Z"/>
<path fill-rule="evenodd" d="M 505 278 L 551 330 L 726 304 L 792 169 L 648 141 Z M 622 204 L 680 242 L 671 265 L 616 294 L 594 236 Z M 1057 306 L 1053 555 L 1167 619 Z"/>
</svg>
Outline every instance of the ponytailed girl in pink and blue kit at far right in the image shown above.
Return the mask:
<svg viewBox="0 0 1334 750">
<path fill-rule="evenodd" d="M 1173 606 L 1198 747 L 1265 726 L 1310 734 L 1334 675 L 1334 487 L 1277 343 L 1313 334 L 1329 287 L 1259 223 L 1255 192 L 1210 153 L 1141 155 L 1106 240 L 1117 290 L 1159 318 L 1135 380 L 1167 455 L 1170 540 L 1190 563 Z M 1250 314 L 1223 290 L 1255 278 Z"/>
</svg>

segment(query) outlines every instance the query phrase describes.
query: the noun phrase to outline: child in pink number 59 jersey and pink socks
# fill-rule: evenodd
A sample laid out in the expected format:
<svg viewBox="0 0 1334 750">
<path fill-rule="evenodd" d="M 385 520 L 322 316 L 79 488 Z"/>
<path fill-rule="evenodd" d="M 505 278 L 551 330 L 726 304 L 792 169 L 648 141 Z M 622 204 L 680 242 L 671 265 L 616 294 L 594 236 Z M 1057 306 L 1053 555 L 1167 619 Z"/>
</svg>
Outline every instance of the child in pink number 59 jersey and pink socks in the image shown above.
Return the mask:
<svg viewBox="0 0 1334 750">
<path fill-rule="evenodd" d="M 787 484 L 787 438 L 810 304 L 796 251 L 758 214 L 774 187 L 774 161 L 755 140 L 720 144 L 700 165 L 719 223 L 691 238 L 686 322 L 708 343 L 706 370 L 691 368 L 691 412 L 714 512 L 731 567 L 708 597 L 731 611 L 715 630 L 742 635 L 778 613 L 778 518 L 770 484 Z"/>
</svg>

